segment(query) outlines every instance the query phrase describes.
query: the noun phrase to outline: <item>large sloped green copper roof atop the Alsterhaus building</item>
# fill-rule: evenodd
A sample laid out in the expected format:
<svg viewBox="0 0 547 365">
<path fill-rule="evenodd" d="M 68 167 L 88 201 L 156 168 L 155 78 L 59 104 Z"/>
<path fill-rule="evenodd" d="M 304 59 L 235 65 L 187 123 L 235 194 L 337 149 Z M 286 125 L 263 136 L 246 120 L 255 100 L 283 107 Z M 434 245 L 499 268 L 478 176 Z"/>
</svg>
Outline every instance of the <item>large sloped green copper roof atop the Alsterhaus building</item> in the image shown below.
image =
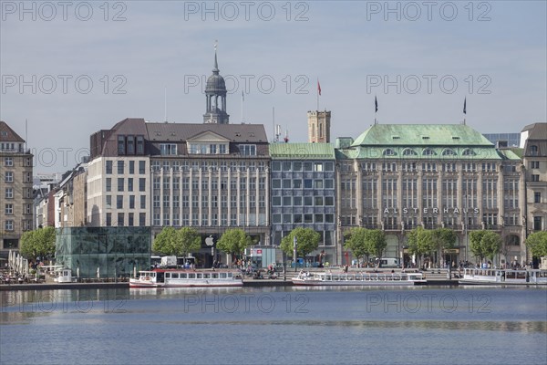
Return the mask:
<svg viewBox="0 0 547 365">
<path fill-rule="evenodd" d="M 493 144 L 464 124 L 375 124 L 352 146 L 480 146 Z"/>
</svg>

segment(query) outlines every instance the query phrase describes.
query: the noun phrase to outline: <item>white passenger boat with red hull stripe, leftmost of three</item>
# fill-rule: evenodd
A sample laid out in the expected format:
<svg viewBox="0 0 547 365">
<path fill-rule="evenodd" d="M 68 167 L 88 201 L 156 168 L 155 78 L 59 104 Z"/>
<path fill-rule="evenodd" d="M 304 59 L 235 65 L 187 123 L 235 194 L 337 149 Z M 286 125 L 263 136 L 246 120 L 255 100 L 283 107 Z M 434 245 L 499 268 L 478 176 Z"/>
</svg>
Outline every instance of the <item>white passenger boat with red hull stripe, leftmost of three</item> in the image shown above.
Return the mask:
<svg viewBox="0 0 547 365">
<path fill-rule="evenodd" d="M 139 271 L 129 287 L 243 287 L 243 279 L 232 271 L 154 269 Z"/>
</svg>

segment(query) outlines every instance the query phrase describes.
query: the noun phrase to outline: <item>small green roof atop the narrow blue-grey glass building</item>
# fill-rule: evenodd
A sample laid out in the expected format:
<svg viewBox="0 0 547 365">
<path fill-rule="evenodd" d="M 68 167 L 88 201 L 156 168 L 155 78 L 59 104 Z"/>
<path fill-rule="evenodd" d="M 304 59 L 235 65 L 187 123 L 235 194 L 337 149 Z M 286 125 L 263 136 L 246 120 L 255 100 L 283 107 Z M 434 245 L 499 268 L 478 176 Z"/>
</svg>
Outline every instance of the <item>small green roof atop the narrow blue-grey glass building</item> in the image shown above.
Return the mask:
<svg viewBox="0 0 547 365">
<path fill-rule="evenodd" d="M 272 160 L 335 160 L 335 148 L 330 143 L 272 143 L 270 157 Z"/>
</svg>

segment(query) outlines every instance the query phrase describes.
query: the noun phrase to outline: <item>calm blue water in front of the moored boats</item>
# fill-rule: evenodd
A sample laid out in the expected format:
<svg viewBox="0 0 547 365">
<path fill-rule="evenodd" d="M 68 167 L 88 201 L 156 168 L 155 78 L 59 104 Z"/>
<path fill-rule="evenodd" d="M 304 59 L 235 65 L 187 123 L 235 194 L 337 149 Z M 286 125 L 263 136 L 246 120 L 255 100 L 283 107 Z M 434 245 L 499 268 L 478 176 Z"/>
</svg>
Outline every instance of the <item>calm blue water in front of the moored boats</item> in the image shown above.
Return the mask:
<svg viewBox="0 0 547 365">
<path fill-rule="evenodd" d="M 1 292 L 2 364 L 544 364 L 547 289 Z"/>
</svg>

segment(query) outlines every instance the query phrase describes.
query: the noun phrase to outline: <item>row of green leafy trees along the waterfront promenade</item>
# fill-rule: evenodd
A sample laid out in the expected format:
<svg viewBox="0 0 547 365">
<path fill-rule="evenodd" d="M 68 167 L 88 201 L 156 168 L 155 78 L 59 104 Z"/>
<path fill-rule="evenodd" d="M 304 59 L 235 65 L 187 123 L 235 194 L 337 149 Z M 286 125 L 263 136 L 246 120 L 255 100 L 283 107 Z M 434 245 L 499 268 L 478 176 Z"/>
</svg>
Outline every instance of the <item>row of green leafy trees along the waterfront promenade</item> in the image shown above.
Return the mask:
<svg viewBox="0 0 547 365">
<path fill-rule="evenodd" d="M 296 255 L 305 257 L 314 251 L 321 239 L 321 235 L 311 228 L 295 228 L 289 235 L 284 236 L 281 249 L 284 253 L 293 257 L 294 238 L 296 239 Z M 495 255 L 501 250 L 501 237 L 493 231 L 471 231 L 470 251 L 482 262 L 485 259 L 493 261 Z M 453 248 L 457 235 L 449 228 L 428 230 L 422 227 L 408 232 L 408 252 L 418 255 L 420 262 L 424 256 L 437 255 L 440 262 L 444 249 Z M 55 255 L 56 232 L 54 227 L 45 227 L 28 231 L 21 236 L 21 255 L 36 260 L 36 257 L 52 257 Z M 246 247 L 253 245 L 253 240 L 243 229 L 233 228 L 222 234 L 216 248 L 226 254 L 241 256 Z M 547 256 L 547 232 L 536 232 L 529 235 L 526 245 L 530 247 L 534 257 Z M 355 227 L 345 235 L 347 250 L 351 250 L 356 259 L 360 260 L 370 255 L 382 258 L 387 246 L 386 235 L 378 229 L 366 229 Z M 156 235 L 152 250 L 163 255 L 186 256 L 201 248 L 201 235 L 191 227 L 164 227 L 160 234 Z"/>
</svg>

